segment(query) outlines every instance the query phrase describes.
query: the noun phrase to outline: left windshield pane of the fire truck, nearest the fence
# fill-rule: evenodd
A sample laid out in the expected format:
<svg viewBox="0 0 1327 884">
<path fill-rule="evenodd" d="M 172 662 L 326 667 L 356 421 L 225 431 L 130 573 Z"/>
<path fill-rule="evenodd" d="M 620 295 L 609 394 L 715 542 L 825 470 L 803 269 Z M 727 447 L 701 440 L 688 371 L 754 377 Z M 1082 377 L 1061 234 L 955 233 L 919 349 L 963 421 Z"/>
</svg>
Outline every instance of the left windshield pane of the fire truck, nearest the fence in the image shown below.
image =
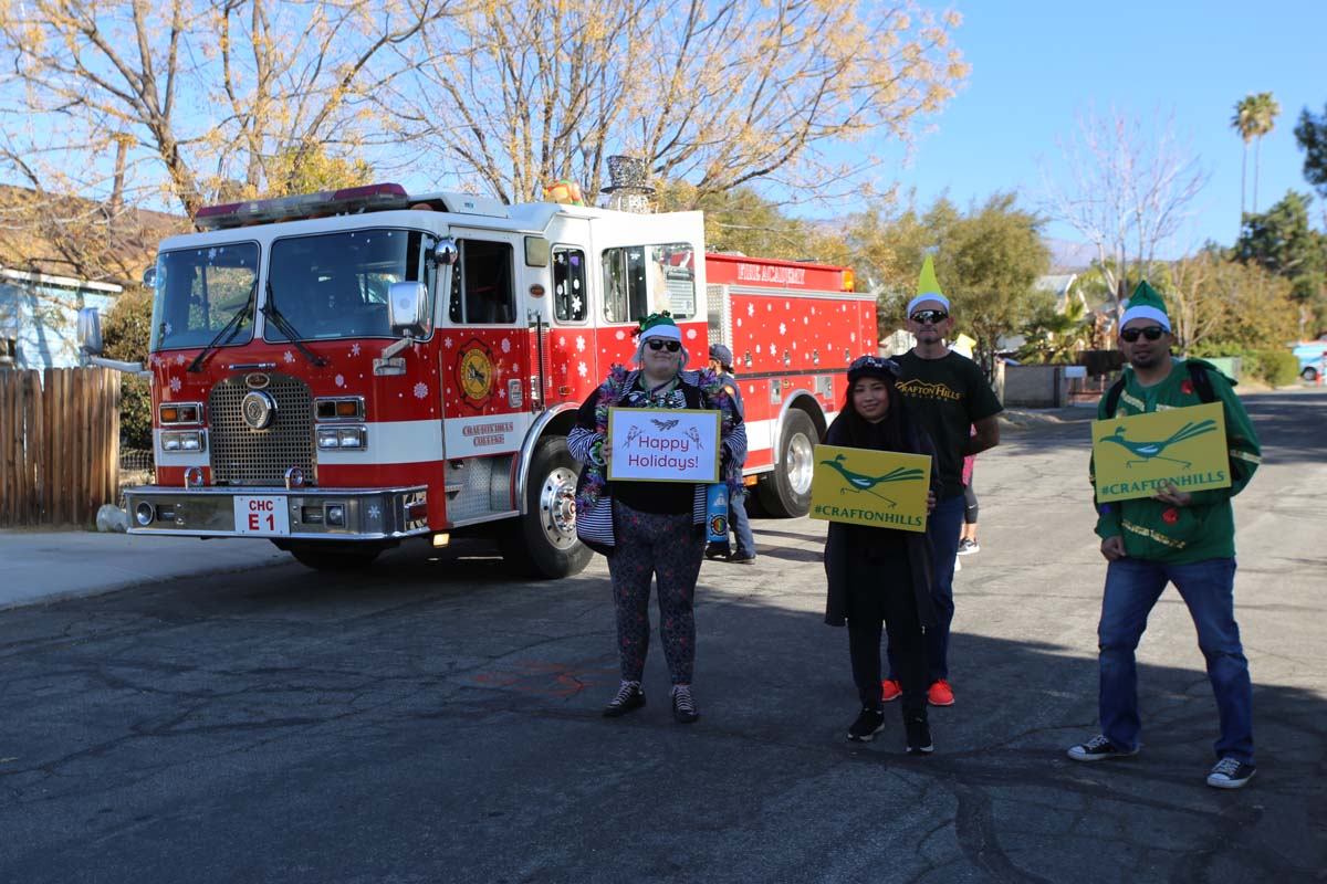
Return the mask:
<svg viewBox="0 0 1327 884">
<path fill-rule="evenodd" d="M 248 343 L 257 257 L 257 243 L 157 256 L 151 349 L 203 347 L 214 341 L 220 346 Z"/>
</svg>

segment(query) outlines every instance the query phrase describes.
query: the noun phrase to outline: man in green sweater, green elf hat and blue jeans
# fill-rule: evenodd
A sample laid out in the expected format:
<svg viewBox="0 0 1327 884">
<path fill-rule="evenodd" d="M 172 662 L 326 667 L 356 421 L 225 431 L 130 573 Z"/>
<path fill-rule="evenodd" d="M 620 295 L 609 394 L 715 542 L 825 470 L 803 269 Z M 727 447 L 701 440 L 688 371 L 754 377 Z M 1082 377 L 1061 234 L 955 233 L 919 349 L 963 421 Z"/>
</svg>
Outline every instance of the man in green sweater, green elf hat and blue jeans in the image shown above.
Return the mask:
<svg viewBox="0 0 1327 884">
<path fill-rule="evenodd" d="M 1230 498 L 1249 484 L 1261 463 L 1261 449 L 1231 383 L 1210 363 L 1172 357 L 1173 343 L 1165 304 L 1152 286 L 1139 284 L 1120 318 L 1120 350 L 1129 363 L 1124 388 L 1113 403 L 1112 396 L 1101 399 L 1097 419 L 1220 402 L 1230 486 L 1184 492 L 1166 484 L 1152 497 L 1097 504 L 1096 533 L 1101 537 L 1101 555 L 1109 562 L 1097 626 L 1101 733 L 1071 747 L 1068 755 L 1074 761 L 1103 761 L 1139 753 L 1141 720 L 1133 651 L 1161 591 L 1174 583 L 1197 627 L 1221 717 L 1217 765 L 1208 785 L 1239 789 L 1254 774 L 1253 685 L 1234 618 L 1235 526 Z M 1108 414 L 1112 406 L 1113 414 Z M 1095 488 L 1095 472 L 1092 481 Z"/>
</svg>

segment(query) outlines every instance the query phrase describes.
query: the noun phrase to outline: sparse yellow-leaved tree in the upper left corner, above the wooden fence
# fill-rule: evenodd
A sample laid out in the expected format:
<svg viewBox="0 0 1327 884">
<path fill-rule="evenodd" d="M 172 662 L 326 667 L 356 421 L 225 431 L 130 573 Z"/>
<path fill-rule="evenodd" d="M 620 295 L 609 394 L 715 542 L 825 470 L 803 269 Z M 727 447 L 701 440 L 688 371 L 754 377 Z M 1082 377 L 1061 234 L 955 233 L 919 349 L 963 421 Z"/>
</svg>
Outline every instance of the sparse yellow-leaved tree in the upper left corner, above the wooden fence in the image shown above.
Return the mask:
<svg viewBox="0 0 1327 884">
<path fill-rule="evenodd" d="M 0 3 L 0 159 L 46 192 L 169 201 L 192 216 L 224 183 L 280 191 L 269 164 L 352 154 L 366 95 L 449 0 Z M 125 163 L 106 158 L 127 144 Z M 117 184 L 118 183 L 118 184 Z M 231 190 L 235 190 L 234 187 Z"/>
</svg>

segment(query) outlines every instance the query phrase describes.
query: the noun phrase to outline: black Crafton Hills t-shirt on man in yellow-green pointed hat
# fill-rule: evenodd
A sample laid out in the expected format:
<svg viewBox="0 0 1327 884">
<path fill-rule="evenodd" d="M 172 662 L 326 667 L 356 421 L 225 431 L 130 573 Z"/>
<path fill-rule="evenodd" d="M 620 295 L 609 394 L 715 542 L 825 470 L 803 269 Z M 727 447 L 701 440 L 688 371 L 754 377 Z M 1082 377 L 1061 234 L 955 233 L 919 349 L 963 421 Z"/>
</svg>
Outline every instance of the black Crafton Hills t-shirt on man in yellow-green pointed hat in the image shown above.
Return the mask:
<svg viewBox="0 0 1327 884">
<path fill-rule="evenodd" d="M 936 444 L 936 467 L 942 494 L 963 493 L 963 445 L 969 428 L 1005 410 L 986 383 L 986 375 L 967 357 L 950 351 L 941 359 L 922 359 L 912 350 L 894 357 L 898 394 Z"/>
</svg>

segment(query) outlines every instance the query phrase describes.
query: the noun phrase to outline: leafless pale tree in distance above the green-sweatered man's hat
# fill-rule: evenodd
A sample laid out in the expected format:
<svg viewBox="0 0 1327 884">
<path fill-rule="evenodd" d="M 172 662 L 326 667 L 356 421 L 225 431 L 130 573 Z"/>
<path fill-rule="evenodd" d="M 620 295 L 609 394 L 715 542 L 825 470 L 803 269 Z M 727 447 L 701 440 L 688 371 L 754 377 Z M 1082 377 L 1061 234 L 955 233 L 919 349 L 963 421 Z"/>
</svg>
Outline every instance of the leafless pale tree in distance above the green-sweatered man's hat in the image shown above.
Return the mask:
<svg viewBox="0 0 1327 884">
<path fill-rule="evenodd" d="M 1193 215 L 1210 172 L 1180 144 L 1173 118 L 1144 126 L 1113 109 L 1104 119 L 1088 111 L 1060 147 L 1068 180 L 1052 180 L 1043 166 L 1043 211 L 1096 247 L 1119 311 L 1127 277 L 1152 273 L 1157 248 Z"/>
</svg>

